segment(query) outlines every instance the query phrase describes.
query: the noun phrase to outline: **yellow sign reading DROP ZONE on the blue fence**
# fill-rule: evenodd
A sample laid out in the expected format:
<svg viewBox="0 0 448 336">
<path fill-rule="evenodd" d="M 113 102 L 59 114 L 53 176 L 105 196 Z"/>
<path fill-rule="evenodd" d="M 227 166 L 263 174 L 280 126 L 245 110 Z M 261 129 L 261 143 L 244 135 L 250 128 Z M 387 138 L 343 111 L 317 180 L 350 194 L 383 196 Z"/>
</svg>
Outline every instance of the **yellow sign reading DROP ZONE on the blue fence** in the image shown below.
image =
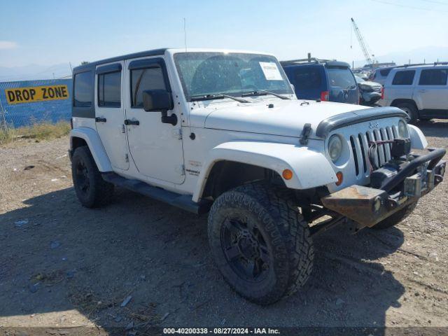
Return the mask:
<svg viewBox="0 0 448 336">
<path fill-rule="evenodd" d="M 8 104 L 43 102 L 45 100 L 69 99 L 67 85 L 14 87 L 5 89 Z"/>
</svg>

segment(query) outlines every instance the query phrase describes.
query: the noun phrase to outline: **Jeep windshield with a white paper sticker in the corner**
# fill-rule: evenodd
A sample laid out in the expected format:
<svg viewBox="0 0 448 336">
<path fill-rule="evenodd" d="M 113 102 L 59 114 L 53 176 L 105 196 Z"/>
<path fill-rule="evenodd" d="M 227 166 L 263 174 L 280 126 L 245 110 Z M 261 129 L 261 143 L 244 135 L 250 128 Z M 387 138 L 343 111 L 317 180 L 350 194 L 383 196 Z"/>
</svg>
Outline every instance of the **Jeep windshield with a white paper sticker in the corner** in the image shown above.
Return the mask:
<svg viewBox="0 0 448 336">
<path fill-rule="evenodd" d="M 225 52 L 180 52 L 174 55 L 183 92 L 192 97 L 250 92 L 293 94 L 275 57 Z"/>
</svg>

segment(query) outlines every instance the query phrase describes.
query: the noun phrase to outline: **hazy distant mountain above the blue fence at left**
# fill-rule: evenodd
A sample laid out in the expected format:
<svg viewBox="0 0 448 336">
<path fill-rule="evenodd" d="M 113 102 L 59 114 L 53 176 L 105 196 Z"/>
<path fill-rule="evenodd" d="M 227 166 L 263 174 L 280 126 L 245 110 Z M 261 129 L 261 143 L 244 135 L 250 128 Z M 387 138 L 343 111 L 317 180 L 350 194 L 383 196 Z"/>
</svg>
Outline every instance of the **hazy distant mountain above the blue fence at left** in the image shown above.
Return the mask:
<svg viewBox="0 0 448 336">
<path fill-rule="evenodd" d="M 52 78 L 67 78 L 71 76 L 70 64 L 55 65 L 29 64 L 26 66 L 0 66 L 0 82 L 15 80 L 37 80 Z"/>
</svg>

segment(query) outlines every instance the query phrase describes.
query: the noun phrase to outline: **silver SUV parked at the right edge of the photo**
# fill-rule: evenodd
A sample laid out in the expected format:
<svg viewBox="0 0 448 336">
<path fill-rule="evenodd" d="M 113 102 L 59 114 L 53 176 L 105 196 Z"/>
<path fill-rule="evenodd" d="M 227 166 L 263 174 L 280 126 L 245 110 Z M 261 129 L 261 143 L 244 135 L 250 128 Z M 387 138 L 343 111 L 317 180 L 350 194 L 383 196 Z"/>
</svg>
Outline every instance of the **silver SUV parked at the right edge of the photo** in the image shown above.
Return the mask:
<svg viewBox="0 0 448 336">
<path fill-rule="evenodd" d="M 432 65 L 398 66 L 384 84 L 381 106 L 405 111 L 410 123 L 417 119 L 448 118 L 448 62 Z"/>
</svg>

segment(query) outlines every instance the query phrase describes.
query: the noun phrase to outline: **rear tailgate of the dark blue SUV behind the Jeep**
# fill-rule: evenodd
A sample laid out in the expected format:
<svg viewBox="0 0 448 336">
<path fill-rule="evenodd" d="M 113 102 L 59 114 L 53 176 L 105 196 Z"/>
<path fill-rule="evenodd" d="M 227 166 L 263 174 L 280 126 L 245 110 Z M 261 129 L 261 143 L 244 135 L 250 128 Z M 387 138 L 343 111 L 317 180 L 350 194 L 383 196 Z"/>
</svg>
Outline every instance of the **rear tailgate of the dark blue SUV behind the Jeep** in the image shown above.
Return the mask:
<svg viewBox="0 0 448 336">
<path fill-rule="evenodd" d="M 359 104 L 359 91 L 353 73 L 347 66 L 325 66 L 328 73 L 330 102 Z"/>
</svg>

